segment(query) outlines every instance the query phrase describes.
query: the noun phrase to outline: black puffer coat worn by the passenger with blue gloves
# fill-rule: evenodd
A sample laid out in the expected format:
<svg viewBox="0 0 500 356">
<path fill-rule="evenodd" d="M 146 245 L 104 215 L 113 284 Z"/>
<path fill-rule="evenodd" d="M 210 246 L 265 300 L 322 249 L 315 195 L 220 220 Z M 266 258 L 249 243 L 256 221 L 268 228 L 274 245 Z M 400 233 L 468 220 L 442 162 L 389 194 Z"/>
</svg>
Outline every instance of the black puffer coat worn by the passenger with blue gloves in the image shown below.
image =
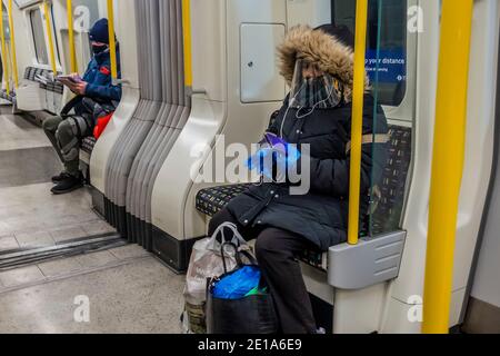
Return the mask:
<svg viewBox="0 0 500 356">
<path fill-rule="evenodd" d="M 308 28 L 298 28 L 294 31 L 309 30 Z M 316 36 L 316 32 L 318 31 L 308 33 Z M 297 39 L 297 36 L 302 34 L 293 33 L 292 30 L 286 44 L 293 36 Z M 342 46 L 334 42 L 329 34 L 320 33 L 320 36 L 326 36 L 327 40 L 332 41 L 337 47 Z M 307 46 L 307 40 L 306 38 L 306 48 L 311 48 L 311 46 Z M 283 56 L 283 47 L 281 55 Z M 293 55 L 299 56 L 300 51 Z M 352 58 L 341 58 L 340 60 L 352 63 Z M 324 61 L 328 62 L 328 59 Z M 352 66 L 342 67 L 342 69 L 352 70 Z M 287 69 L 282 67 L 282 71 L 284 70 Z M 329 71 L 328 68 L 324 71 Z M 287 75 L 284 76 L 287 78 Z M 288 185 L 263 184 L 251 187 L 228 205 L 229 211 L 241 225 L 282 228 L 303 236 L 321 250 L 328 250 L 329 247 L 347 240 L 350 175 L 350 155 L 347 148 L 351 137 L 352 116 L 350 99 L 350 95 L 347 95 L 343 106 L 316 109 L 312 115 L 302 119 L 296 118 L 296 109 L 289 110 L 288 119 L 284 122 L 283 138 L 290 144 L 298 144 L 299 148 L 302 144 L 310 145 L 311 189 L 307 195 L 292 196 Z M 377 107 L 377 111 L 374 111 L 373 101 L 371 95 L 364 96 L 363 135 L 369 137 L 372 134 L 380 134 L 383 137 L 388 134 L 387 120 L 381 107 Z M 269 131 L 279 134 L 287 108 L 288 100 Z M 377 112 L 377 120 L 373 119 L 374 112 Z M 373 122 L 377 122 L 376 129 Z M 381 176 L 386 162 L 386 144 L 368 142 L 362 147 L 362 220 L 368 211 L 372 181 L 378 180 Z"/>
</svg>

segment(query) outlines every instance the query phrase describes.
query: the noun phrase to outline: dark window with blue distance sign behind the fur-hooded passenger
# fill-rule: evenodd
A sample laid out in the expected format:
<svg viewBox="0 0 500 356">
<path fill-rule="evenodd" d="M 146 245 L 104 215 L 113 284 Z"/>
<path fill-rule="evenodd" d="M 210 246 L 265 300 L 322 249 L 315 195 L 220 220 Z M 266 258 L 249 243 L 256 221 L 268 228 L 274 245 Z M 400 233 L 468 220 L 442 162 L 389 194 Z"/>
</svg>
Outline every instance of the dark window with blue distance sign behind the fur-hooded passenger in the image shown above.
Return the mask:
<svg viewBox="0 0 500 356">
<path fill-rule="evenodd" d="M 407 90 L 407 1 L 369 1 L 367 71 L 372 82 L 378 71 L 379 103 L 384 106 L 401 105 Z M 354 32 L 356 1 L 332 0 L 332 22 Z"/>
</svg>

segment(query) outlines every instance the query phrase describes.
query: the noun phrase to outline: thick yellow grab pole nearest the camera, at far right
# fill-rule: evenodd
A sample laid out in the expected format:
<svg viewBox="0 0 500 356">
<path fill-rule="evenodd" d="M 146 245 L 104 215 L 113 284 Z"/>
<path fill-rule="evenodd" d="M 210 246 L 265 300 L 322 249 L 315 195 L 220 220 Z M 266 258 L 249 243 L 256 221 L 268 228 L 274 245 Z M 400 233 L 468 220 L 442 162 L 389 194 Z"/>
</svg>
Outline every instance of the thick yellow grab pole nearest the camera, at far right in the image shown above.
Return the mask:
<svg viewBox="0 0 500 356">
<path fill-rule="evenodd" d="M 443 0 L 429 205 L 424 334 L 449 332 L 454 240 L 463 174 L 473 0 Z"/>
</svg>

